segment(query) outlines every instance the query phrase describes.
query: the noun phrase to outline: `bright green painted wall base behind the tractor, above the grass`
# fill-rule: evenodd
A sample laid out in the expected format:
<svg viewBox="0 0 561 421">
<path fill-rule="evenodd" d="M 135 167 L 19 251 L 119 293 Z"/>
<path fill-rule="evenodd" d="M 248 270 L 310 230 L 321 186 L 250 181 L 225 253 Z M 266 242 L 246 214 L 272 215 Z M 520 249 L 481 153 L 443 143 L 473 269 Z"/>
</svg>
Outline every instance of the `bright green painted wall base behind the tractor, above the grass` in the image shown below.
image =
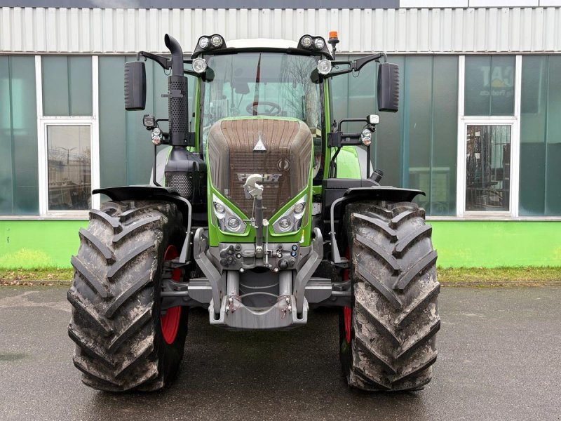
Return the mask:
<svg viewBox="0 0 561 421">
<path fill-rule="evenodd" d="M 561 222 L 431 221 L 441 267 L 561 266 Z M 70 267 L 88 221 L 0 221 L 0 268 Z"/>
</svg>

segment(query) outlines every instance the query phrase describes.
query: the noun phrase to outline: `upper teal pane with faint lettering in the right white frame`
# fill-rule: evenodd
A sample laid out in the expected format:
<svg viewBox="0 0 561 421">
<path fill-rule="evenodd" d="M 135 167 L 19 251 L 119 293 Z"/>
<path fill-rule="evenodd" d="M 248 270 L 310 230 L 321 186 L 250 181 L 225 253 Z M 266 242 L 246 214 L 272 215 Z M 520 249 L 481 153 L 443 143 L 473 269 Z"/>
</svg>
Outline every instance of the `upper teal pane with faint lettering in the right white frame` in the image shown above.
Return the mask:
<svg viewBox="0 0 561 421">
<path fill-rule="evenodd" d="M 508 55 L 466 57 L 466 116 L 514 114 L 515 58 Z"/>
</svg>

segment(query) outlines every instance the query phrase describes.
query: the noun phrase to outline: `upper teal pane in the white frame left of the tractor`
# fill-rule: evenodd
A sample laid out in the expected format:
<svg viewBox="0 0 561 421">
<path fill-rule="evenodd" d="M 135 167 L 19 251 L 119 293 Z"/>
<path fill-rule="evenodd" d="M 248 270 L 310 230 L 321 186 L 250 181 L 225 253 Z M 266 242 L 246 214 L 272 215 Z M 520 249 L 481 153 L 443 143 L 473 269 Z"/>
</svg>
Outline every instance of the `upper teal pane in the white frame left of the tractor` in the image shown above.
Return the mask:
<svg viewBox="0 0 561 421">
<path fill-rule="evenodd" d="M 92 115 L 92 58 L 48 55 L 43 69 L 43 115 Z"/>
</svg>

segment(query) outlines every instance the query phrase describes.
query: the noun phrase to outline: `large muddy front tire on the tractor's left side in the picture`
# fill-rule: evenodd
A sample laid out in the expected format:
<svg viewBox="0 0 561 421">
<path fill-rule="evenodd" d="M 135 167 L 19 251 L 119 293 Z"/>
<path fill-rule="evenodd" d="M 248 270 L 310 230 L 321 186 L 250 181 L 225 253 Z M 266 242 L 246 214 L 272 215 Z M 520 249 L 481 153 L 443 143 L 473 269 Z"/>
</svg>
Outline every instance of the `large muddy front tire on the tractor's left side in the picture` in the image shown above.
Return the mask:
<svg viewBox="0 0 561 421">
<path fill-rule="evenodd" d="M 79 234 L 68 333 L 83 383 L 110 392 L 169 385 L 183 356 L 187 309 L 161 316 L 160 291 L 164 276 L 182 276 L 163 265 L 181 250 L 181 214 L 172 203 L 107 202 L 90 211 Z"/>
</svg>

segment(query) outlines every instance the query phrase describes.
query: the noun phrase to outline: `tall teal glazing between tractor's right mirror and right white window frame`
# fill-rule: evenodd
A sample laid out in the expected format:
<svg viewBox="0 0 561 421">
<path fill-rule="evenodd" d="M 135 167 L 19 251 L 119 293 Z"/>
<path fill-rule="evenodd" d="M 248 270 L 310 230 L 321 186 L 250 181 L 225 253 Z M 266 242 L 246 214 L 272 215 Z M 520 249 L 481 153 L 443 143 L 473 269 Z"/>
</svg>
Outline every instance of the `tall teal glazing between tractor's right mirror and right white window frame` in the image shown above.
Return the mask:
<svg viewBox="0 0 561 421">
<path fill-rule="evenodd" d="M 408 187 L 426 196 L 415 201 L 428 215 L 453 215 L 456 210 L 457 72 L 455 57 L 415 57 L 406 60 L 409 121 L 404 145 L 409 148 Z"/>
</svg>

